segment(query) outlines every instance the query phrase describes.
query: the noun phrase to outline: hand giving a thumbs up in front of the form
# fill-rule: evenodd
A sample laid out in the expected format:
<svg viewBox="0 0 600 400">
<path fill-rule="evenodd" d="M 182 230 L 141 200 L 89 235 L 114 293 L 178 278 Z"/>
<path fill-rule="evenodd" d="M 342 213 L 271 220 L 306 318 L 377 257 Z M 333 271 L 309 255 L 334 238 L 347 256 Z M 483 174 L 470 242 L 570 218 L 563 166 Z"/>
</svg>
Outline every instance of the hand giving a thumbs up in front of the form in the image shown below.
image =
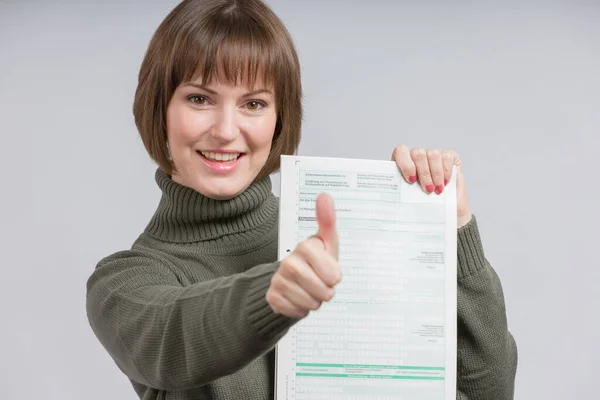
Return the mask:
<svg viewBox="0 0 600 400">
<path fill-rule="evenodd" d="M 327 194 L 317 197 L 317 223 L 317 233 L 300 242 L 273 274 L 266 298 L 278 314 L 306 317 L 333 298 L 334 286 L 342 278 L 335 208 Z"/>
</svg>

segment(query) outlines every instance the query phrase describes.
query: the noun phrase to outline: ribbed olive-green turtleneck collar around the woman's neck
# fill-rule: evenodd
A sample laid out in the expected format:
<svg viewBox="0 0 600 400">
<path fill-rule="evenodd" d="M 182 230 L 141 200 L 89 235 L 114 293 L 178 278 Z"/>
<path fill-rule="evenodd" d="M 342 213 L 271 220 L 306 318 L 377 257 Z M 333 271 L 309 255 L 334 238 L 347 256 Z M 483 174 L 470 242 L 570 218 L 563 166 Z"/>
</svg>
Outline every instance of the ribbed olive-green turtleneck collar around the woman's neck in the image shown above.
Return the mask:
<svg viewBox="0 0 600 400">
<path fill-rule="evenodd" d="M 215 200 L 173 181 L 160 168 L 162 198 L 145 232 L 161 241 L 193 243 L 263 231 L 277 218 L 278 199 L 267 176 L 229 200 Z M 246 235 L 244 235 L 246 236 Z"/>
</svg>

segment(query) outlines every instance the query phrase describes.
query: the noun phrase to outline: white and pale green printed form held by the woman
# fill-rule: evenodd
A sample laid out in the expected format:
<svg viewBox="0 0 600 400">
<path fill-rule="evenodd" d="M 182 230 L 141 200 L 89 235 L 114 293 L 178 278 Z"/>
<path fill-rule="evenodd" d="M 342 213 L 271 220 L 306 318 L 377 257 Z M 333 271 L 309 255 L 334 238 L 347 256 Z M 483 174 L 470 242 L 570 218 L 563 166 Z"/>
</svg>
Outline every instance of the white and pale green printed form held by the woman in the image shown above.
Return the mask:
<svg viewBox="0 0 600 400">
<path fill-rule="evenodd" d="M 441 195 L 393 161 L 281 157 L 279 259 L 334 200 L 342 281 L 276 347 L 277 400 L 456 398 L 456 168 Z"/>
</svg>

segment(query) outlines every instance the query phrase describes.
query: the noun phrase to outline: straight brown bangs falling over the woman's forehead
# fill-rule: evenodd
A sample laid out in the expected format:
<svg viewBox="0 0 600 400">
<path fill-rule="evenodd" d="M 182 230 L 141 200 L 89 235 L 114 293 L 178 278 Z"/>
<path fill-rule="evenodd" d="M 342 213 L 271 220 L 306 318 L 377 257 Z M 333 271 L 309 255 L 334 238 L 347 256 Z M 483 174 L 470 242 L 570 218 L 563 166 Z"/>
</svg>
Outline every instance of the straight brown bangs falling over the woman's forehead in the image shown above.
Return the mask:
<svg viewBox="0 0 600 400">
<path fill-rule="evenodd" d="M 233 85 L 252 88 L 260 82 L 275 88 L 275 77 L 286 76 L 281 70 L 286 57 L 278 47 L 268 28 L 244 18 L 215 15 L 174 50 L 180 59 L 173 66 L 173 83 L 200 78 L 210 84 L 224 78 Z"/>
</svg>

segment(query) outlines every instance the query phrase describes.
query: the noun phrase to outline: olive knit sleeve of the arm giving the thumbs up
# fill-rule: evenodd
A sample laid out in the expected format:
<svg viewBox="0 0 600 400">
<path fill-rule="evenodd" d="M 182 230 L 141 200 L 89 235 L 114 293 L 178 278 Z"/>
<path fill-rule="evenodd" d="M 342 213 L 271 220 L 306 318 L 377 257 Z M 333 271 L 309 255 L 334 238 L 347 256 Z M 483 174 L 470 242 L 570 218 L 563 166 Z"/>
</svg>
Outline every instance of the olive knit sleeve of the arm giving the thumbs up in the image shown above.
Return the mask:
<svg viewBox="0 0 600 400">
<path fill-rule="evenodd" d="M 119 252 L 87 282 L 88 320 L 131 380 L 162 390 L 198 387 L 268 352 L 297 322 L 265 299 L 278 266 L 184 287 L 164 263 Z"/>
</svg>

